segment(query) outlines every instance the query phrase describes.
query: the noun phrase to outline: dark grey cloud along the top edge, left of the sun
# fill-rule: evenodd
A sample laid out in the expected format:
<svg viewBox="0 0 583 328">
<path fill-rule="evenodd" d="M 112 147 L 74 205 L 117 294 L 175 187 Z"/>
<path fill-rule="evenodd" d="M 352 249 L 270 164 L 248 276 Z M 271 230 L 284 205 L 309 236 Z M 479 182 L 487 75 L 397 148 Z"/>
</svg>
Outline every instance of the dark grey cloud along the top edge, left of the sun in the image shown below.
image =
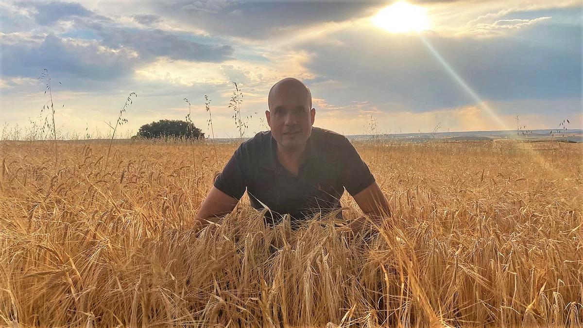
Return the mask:
<svg viewBox="0 0 583 328">
<path fill-rule="evenodd" d="M 321 22 L 372 14 L 387 1 L 175 1 L 150 2 L 153 12 L 182 25 L 223 36 L 264 39 Z"/>
</svg>

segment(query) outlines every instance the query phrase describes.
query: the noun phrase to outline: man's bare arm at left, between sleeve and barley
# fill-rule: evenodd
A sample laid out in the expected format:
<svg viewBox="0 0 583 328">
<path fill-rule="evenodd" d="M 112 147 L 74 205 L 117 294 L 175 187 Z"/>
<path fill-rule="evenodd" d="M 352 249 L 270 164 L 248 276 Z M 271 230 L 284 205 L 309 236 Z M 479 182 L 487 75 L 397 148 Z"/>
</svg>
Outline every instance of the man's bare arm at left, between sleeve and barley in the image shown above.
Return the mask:
<svg viewBox="0 0 583 328">
<path fill-rule="evenodd" d="M 215 186 L 210 188 L 209 194 L 201 204 L 201 208 L 196 213 L 194 228 L 200 231 L 210 222 L 217 222 L 224 215 L 233 211 L 237 205 L 237 198 L 231 197 Z"/>
</svg>

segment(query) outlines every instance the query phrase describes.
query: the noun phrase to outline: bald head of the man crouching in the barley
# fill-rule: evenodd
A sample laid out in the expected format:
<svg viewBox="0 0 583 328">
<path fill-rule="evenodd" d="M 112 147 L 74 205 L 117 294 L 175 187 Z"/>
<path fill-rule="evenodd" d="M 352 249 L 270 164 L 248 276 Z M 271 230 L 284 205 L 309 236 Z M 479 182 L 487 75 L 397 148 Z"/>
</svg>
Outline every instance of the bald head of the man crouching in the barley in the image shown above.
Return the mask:
<svg viewBox="0 0 583 328">
<path fill-rule="evenodd" d="M 265 111 L 273 138 L 284 148 L 301 148 L 310 138 L 316 110 L 310 89 L 294 78 L 285 78 L 269 90 Z"/>
</svg>

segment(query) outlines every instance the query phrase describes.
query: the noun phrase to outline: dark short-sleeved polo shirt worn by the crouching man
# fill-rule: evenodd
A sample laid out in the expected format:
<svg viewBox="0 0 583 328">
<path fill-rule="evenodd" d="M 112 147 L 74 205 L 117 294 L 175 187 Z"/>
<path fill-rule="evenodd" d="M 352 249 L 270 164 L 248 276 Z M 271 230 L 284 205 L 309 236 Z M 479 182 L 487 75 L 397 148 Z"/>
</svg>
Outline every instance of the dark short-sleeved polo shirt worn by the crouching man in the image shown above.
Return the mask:
<svg viewBox="0 0 583 328">
<path fill-rule="evenodd" d="M 263 203 L 272 211 L 265 214 L 266 224 L 278 224 L 283 214 L 290 214 L 297 228 L 318 212 L 325 215 L 340 208 L 345 189 L 354 196 L 373 182 L 368 166 L 346 137 L 312 127 L 298 176 L 279 162 L 277 142 L 271 131 L 264 131 L 239 146 L 215 187 L 237 199 L 246 188 L 252 207 L 262 210 Z"/>
</svg>

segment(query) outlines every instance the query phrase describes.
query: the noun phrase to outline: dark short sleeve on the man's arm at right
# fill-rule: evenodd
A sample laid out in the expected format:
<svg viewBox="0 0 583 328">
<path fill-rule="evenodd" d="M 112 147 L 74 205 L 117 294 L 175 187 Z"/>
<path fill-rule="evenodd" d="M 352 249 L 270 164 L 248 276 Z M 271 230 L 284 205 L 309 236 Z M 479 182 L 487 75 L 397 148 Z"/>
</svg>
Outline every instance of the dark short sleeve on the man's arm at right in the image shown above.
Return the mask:
<svg viewBox="0 0 583 328">
<path fill-rule="evenodd" d="M 343 138 L 340 160 L 342 163 L 342 184 L 350 196 L 360 193 L 375 181 L 368 166 L 346 137 Z"/>
</svg>

